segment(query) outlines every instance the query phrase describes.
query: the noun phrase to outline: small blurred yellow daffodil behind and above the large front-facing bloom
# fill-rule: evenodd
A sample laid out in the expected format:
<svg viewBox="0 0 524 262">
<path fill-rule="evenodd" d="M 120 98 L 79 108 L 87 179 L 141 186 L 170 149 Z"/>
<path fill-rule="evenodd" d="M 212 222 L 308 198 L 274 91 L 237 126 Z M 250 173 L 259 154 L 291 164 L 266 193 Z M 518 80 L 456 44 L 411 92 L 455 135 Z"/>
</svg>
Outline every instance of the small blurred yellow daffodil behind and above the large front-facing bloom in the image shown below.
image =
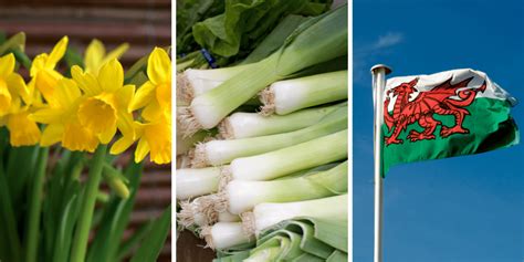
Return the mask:
<svg viewBox="0 0 524 262">
<path fill-rule="evenodd" d="M 85 50 L 85 72 L 98 75 L 102 65 L 111 60 L 119 59 L 128 49 L 129 44 L 123 43 L 106 54 L 104 44 L 99 40 L 94 39 Z"/>
</svg>

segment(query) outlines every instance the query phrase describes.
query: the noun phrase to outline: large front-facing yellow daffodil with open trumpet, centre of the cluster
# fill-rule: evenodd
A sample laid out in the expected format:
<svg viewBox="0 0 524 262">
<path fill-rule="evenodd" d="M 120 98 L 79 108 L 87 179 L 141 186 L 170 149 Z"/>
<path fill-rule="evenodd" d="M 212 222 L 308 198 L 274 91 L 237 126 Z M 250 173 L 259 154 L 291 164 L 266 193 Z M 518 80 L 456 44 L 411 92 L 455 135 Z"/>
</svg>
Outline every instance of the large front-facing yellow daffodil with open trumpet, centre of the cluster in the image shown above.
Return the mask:
<svg viewBox="0 0 524 262">
<path fill-rule="evenodd" d="M 71 73 L 85 95 L 78 107 L 80 124 L 94 133 L 102 144 L 108 144 L 117 128 L 134 137 L 133 115 L 127 108 L 135 86 L 124 85 L 122 64 L 116 59 L 111 60 L 96 76 L 78 66 L 73 66 Z"/>
</svg>

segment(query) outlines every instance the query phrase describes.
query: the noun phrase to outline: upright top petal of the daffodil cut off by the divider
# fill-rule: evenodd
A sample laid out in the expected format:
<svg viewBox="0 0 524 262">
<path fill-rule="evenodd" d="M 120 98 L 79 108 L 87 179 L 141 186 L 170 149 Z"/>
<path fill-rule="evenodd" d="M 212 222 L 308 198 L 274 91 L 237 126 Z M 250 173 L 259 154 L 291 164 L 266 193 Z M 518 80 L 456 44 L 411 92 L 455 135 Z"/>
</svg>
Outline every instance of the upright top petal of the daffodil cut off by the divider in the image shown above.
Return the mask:
<svg viewBox="0 0 524 262">
<path fill-rule="evenodd" d="M 155 84 L 171 81 L 171 60 L 165 50 L 153 50 L 147 60 L 147 76 Z"/>
</svg>

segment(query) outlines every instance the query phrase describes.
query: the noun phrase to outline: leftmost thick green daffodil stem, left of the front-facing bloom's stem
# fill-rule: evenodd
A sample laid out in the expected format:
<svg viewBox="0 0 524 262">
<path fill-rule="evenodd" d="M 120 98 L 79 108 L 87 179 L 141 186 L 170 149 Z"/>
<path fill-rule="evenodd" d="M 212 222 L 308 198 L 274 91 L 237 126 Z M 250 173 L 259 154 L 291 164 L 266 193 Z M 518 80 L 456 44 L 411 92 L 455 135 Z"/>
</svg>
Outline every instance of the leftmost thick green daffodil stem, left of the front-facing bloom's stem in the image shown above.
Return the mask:
<svg viewBox="0 0 524 262">
<path fill-rule="evenodd" d="M 48 164 L 49 148 L 39 149 L 36 174 L 31 188 L 30 208 L 28 217 L 28 231 L 25 235 L 25 262 L 35 262 L 38 254 L 40 218 L 42 211 L 42 193 L 45 179 L 45 167 Z"/>
</svg>

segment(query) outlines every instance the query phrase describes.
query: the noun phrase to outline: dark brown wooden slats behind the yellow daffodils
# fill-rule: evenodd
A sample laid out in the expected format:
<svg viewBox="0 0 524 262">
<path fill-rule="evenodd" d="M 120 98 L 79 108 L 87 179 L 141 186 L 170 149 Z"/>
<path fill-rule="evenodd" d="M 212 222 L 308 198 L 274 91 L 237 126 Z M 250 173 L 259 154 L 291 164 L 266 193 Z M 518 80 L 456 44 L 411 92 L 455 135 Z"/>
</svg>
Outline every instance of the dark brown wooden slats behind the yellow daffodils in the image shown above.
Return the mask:
<svg viewBox="0 0 524 262">
<path fill-rule="evenodd" d="M 122 62 L 129 66 L 154 46 L 171 42 L 170 0 L 0 0 L 0 31 L 12 35 L 27 33 L 30 57 L 49 52 L 63 35 L 83 51 L 93 38 L 113 49 L 130 44 Z M 170 166 L 146 165 L 132 218 L 136 227 L 156 218 L 171 202 Z M 159 261 L 171 261 L 171 241 L 167 241 Z"/>
</svg>

